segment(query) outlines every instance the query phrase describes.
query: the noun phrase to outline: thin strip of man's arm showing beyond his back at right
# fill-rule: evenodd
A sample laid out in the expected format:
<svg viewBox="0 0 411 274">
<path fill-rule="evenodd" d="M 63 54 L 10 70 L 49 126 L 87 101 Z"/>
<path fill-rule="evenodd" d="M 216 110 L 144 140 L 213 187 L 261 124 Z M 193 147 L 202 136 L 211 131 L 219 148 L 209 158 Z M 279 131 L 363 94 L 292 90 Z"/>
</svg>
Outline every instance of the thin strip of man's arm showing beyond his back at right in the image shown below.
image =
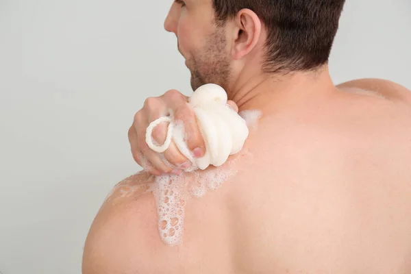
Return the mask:
<svg viewBox="0 0 411 274">
<path fill-rule="evenodd" d="M 384 79 L 357 79 L 343 84 L 337 88 L 359 88 L 382 95 L 390 101 L 401 101 L 411 107 L 411 91 L 405 86 Z"/>
</svg>

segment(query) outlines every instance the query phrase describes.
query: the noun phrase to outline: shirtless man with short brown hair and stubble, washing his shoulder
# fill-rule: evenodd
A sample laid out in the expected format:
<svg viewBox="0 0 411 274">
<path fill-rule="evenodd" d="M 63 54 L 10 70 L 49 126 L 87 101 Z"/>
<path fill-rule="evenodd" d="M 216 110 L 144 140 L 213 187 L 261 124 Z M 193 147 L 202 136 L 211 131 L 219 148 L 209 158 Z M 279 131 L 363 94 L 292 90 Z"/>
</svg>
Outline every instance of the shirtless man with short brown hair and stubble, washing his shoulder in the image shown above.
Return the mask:
<svg viewBox="0 0 411 274">
<path fill-rule="evenodd" d="M 145 129 L 171 108 L 196 157 L 204 143 L 186 97 L 171 90 L 147 99 L 129 131 L 146 172 L 101 207 L 84 274 L 411 273 L 410 93 L 381 79 L 334 86 L 327 60 L 343 4 L 173 3 L 164 25 L 177 36 L 193 90 L 219 84 L 234 108 L 262 116 L 241 155 L 211 169 L 236 174 L 187 200 L 184 241 L 170 247 L 145 190 L 150 173 L 190 178 L 182 173 L 190 163 L 174 144 L 151 151 Z M 155 140 L 164 141 L 165 129 L 155 128 Z"/>
</svg>

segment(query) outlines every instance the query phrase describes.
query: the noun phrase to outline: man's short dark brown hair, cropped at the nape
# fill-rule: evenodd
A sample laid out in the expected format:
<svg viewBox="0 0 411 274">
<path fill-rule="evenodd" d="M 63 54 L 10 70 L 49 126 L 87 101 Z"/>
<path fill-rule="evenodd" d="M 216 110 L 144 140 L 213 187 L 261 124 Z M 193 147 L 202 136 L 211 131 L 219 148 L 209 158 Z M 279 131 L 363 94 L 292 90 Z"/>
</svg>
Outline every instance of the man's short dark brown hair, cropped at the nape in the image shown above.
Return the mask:
<svg viewBox="0 0 411 274">
<path fill-rule="evenodd" d="M 345 0 L 212 0 L 224 25 L 243 8 L 264 23 L 268 73 L 308 71 L 328 62 Z"/>
</svg>

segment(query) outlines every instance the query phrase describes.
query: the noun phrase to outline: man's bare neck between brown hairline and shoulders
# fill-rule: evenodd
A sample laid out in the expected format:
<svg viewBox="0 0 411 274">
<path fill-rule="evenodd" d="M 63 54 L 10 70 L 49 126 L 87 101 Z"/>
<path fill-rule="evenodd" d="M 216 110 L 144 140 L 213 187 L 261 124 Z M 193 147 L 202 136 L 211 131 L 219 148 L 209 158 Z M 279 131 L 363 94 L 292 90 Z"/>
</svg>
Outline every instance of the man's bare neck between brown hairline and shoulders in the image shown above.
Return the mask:
<svg viewBox="0 0 411 274">
<path fill-rule="evenodd" d="M 289 75 L 258 73 L 251 77 L 240 75 L 227 89 L 229 100 L 242 110 L 270 110 L 285 101 L 301 101 L 313 95 L 325 95 L 335 90 L 328 67 L 315 72 L 296 72 Z"/>
</svg>

